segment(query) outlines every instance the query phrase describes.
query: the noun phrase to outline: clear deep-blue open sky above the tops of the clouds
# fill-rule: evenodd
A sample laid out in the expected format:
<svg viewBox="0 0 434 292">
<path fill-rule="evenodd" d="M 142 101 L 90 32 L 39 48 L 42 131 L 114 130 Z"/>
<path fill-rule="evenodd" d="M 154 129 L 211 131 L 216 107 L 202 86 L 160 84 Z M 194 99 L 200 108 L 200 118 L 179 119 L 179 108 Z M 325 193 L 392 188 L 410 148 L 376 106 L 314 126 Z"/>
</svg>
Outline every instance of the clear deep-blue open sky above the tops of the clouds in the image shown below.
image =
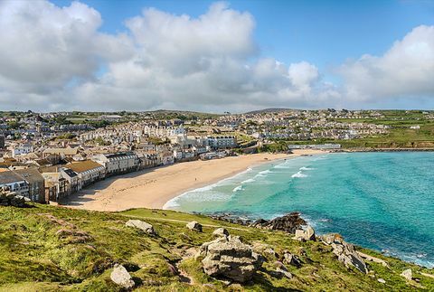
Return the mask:
<svg viewBox="0 0 434 292">
<path fill-rule="evenodd" d="M 70 0 L 52 1 L 71 5 Z M 96 8 L 107 33 L 127 31 L 124 21 L 146 7 L 171 14 L 198 17 L 215 1 L 83 0 Z M 364 53 L 379 55 L 392 42 L 420 24 L 434 24 L 434 1 L 227 1 L 231 8 L 247 11 L 256 21 L 255 38 L 260 53 L 286 63 L 300 60 L 326 70 Z"/>
</svg>

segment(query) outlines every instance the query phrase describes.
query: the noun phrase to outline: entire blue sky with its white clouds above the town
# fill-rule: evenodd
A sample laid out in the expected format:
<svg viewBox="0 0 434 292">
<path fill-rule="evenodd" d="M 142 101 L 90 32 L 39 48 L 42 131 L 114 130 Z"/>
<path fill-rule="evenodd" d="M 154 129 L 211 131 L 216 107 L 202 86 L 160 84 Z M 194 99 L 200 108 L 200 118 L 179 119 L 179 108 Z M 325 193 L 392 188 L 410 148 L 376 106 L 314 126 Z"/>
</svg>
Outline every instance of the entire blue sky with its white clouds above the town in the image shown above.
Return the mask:
<svg viewBox="0 0 434 292">
<path fill-rule="evenodd" d="M 0 110 L 434 108 L 434 0 L 4 0 L 0 40 Z"/>
</svg>

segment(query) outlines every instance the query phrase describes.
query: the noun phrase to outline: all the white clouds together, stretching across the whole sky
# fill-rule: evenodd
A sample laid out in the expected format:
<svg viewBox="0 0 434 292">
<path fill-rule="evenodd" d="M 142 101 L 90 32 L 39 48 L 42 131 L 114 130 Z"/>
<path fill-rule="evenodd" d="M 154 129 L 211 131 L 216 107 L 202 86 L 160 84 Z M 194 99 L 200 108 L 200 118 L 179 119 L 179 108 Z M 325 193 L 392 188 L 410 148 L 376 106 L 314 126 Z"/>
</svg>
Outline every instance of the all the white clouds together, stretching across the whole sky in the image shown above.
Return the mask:
<svg viewBox="0 0 434 292">
<path fill-rule="evenodd" d="M 224 3 L 197 18 L 146 8 L 126 33 L 100 33 L 101 24 L 80 2 L 1 2 L 1 109 L 351 108 L 434 93 L 434 26 L 338 65 L 336 86 L 308 61 L 262 57 L 253 15 Z"/>
</svg>

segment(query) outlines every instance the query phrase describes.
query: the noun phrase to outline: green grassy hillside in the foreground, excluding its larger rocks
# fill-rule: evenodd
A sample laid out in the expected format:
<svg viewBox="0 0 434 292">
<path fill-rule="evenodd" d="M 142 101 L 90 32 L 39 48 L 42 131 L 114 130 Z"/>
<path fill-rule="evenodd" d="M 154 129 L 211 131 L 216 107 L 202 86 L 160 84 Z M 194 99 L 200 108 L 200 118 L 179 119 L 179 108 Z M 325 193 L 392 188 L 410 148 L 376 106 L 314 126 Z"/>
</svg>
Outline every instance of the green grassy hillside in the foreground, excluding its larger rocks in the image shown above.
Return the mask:
<svg viewBox="0 0 434 292">
<path fill-rule="evenodd" d="M 151 237 L 126 227 L 125 222 L 131 218 L 153 224 L 158 235 Z M 185 222 L 192 220 L 203 224 L 203 233 L 185 228 Z M 243 287 L 210 278 L 191 255 L 204 241 L 212 240 L 212 231 L 220 226 L 249 243 L 266 243 L 278 254 L 289 250 L 300 256 L 303 267 L 288 267 L 294 278 L 275 278 L 272 271 L 277 258 L 266 254 L 263 268 Z M 181 212 L 86 212 L 40 204 L 26 209 L 0 207 L 0 291 L 119 291 L 109 278 L 115 263 L 129 270 L 137 291 L 434 289 L 434 279 L 420 275 L 420 271 L 432 270 L 363 251 L 385 259 L 391 269 L 367 262 L 371 272 L 363 275 L 344 268 L 331 248 L 320 242 L 299 242 L 283 232 Z M 174 273 L 173 266 L 184 276 Z M 400 273 L 405 268 L 412 268 L 419 282 L 402 278 Z M 378 278 L 386 283 L 379 283 Z"/>
</svg>

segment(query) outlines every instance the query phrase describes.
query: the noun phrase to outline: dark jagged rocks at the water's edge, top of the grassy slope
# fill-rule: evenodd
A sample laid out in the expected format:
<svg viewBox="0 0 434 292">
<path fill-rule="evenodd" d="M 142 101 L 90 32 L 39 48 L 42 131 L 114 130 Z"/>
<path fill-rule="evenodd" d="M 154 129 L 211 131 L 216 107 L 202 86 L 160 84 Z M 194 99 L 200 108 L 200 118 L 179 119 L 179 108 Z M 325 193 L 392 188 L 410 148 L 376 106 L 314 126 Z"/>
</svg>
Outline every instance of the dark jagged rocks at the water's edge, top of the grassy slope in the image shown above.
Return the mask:
<svg viewBox="0 0 434 292">
<path fill-rule="evenodd" d="M 297 229 L 301 229 L 301 227 L 306 224 L 307 222 L 300 217 L 300 213 L 291 212 L 285 216 L 277 217 L 270 221 L 259 219 L 254 221 L 251 226 L 273 231 L 285 231 L 294 234 Z"/>
</svg>

